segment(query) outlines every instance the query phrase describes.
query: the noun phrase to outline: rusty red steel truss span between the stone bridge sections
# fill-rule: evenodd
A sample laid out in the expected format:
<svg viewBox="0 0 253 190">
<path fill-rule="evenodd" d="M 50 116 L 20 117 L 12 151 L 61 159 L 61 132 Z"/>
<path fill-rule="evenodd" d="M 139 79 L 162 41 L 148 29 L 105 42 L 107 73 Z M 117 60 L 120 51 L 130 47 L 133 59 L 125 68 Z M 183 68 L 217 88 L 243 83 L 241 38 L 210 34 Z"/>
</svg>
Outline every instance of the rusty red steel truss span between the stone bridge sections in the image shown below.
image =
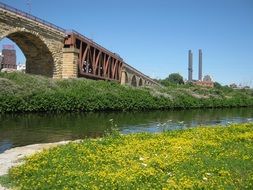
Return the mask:
<svg viewBox="0 0 253 190">
<path fill-rule="evenodd" d="M 79 50 L 78 71 L 80 77 L 114 80 L 120 82 L 123 59 L 99 44 L 77 33 L 66 32 L 65 48 Z"/>
</svg>

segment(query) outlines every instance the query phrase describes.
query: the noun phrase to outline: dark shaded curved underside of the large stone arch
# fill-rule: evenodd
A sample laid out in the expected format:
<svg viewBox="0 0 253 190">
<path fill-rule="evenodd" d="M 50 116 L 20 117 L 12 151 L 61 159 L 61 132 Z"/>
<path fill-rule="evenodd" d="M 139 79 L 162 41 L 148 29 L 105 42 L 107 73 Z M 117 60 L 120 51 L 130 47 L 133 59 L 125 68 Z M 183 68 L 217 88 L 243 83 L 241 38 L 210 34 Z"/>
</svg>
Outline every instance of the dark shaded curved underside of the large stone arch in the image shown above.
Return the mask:
<svg viewBox="0 0 253 190">
<path fill-rule="evenodd" d="M 27 31 L 11 31 L 2 38 L 15 42 L 26 57 L 26 72 L 53 77 L 54 58 L 47 44 L 38 35 Z"/>
</svg>

